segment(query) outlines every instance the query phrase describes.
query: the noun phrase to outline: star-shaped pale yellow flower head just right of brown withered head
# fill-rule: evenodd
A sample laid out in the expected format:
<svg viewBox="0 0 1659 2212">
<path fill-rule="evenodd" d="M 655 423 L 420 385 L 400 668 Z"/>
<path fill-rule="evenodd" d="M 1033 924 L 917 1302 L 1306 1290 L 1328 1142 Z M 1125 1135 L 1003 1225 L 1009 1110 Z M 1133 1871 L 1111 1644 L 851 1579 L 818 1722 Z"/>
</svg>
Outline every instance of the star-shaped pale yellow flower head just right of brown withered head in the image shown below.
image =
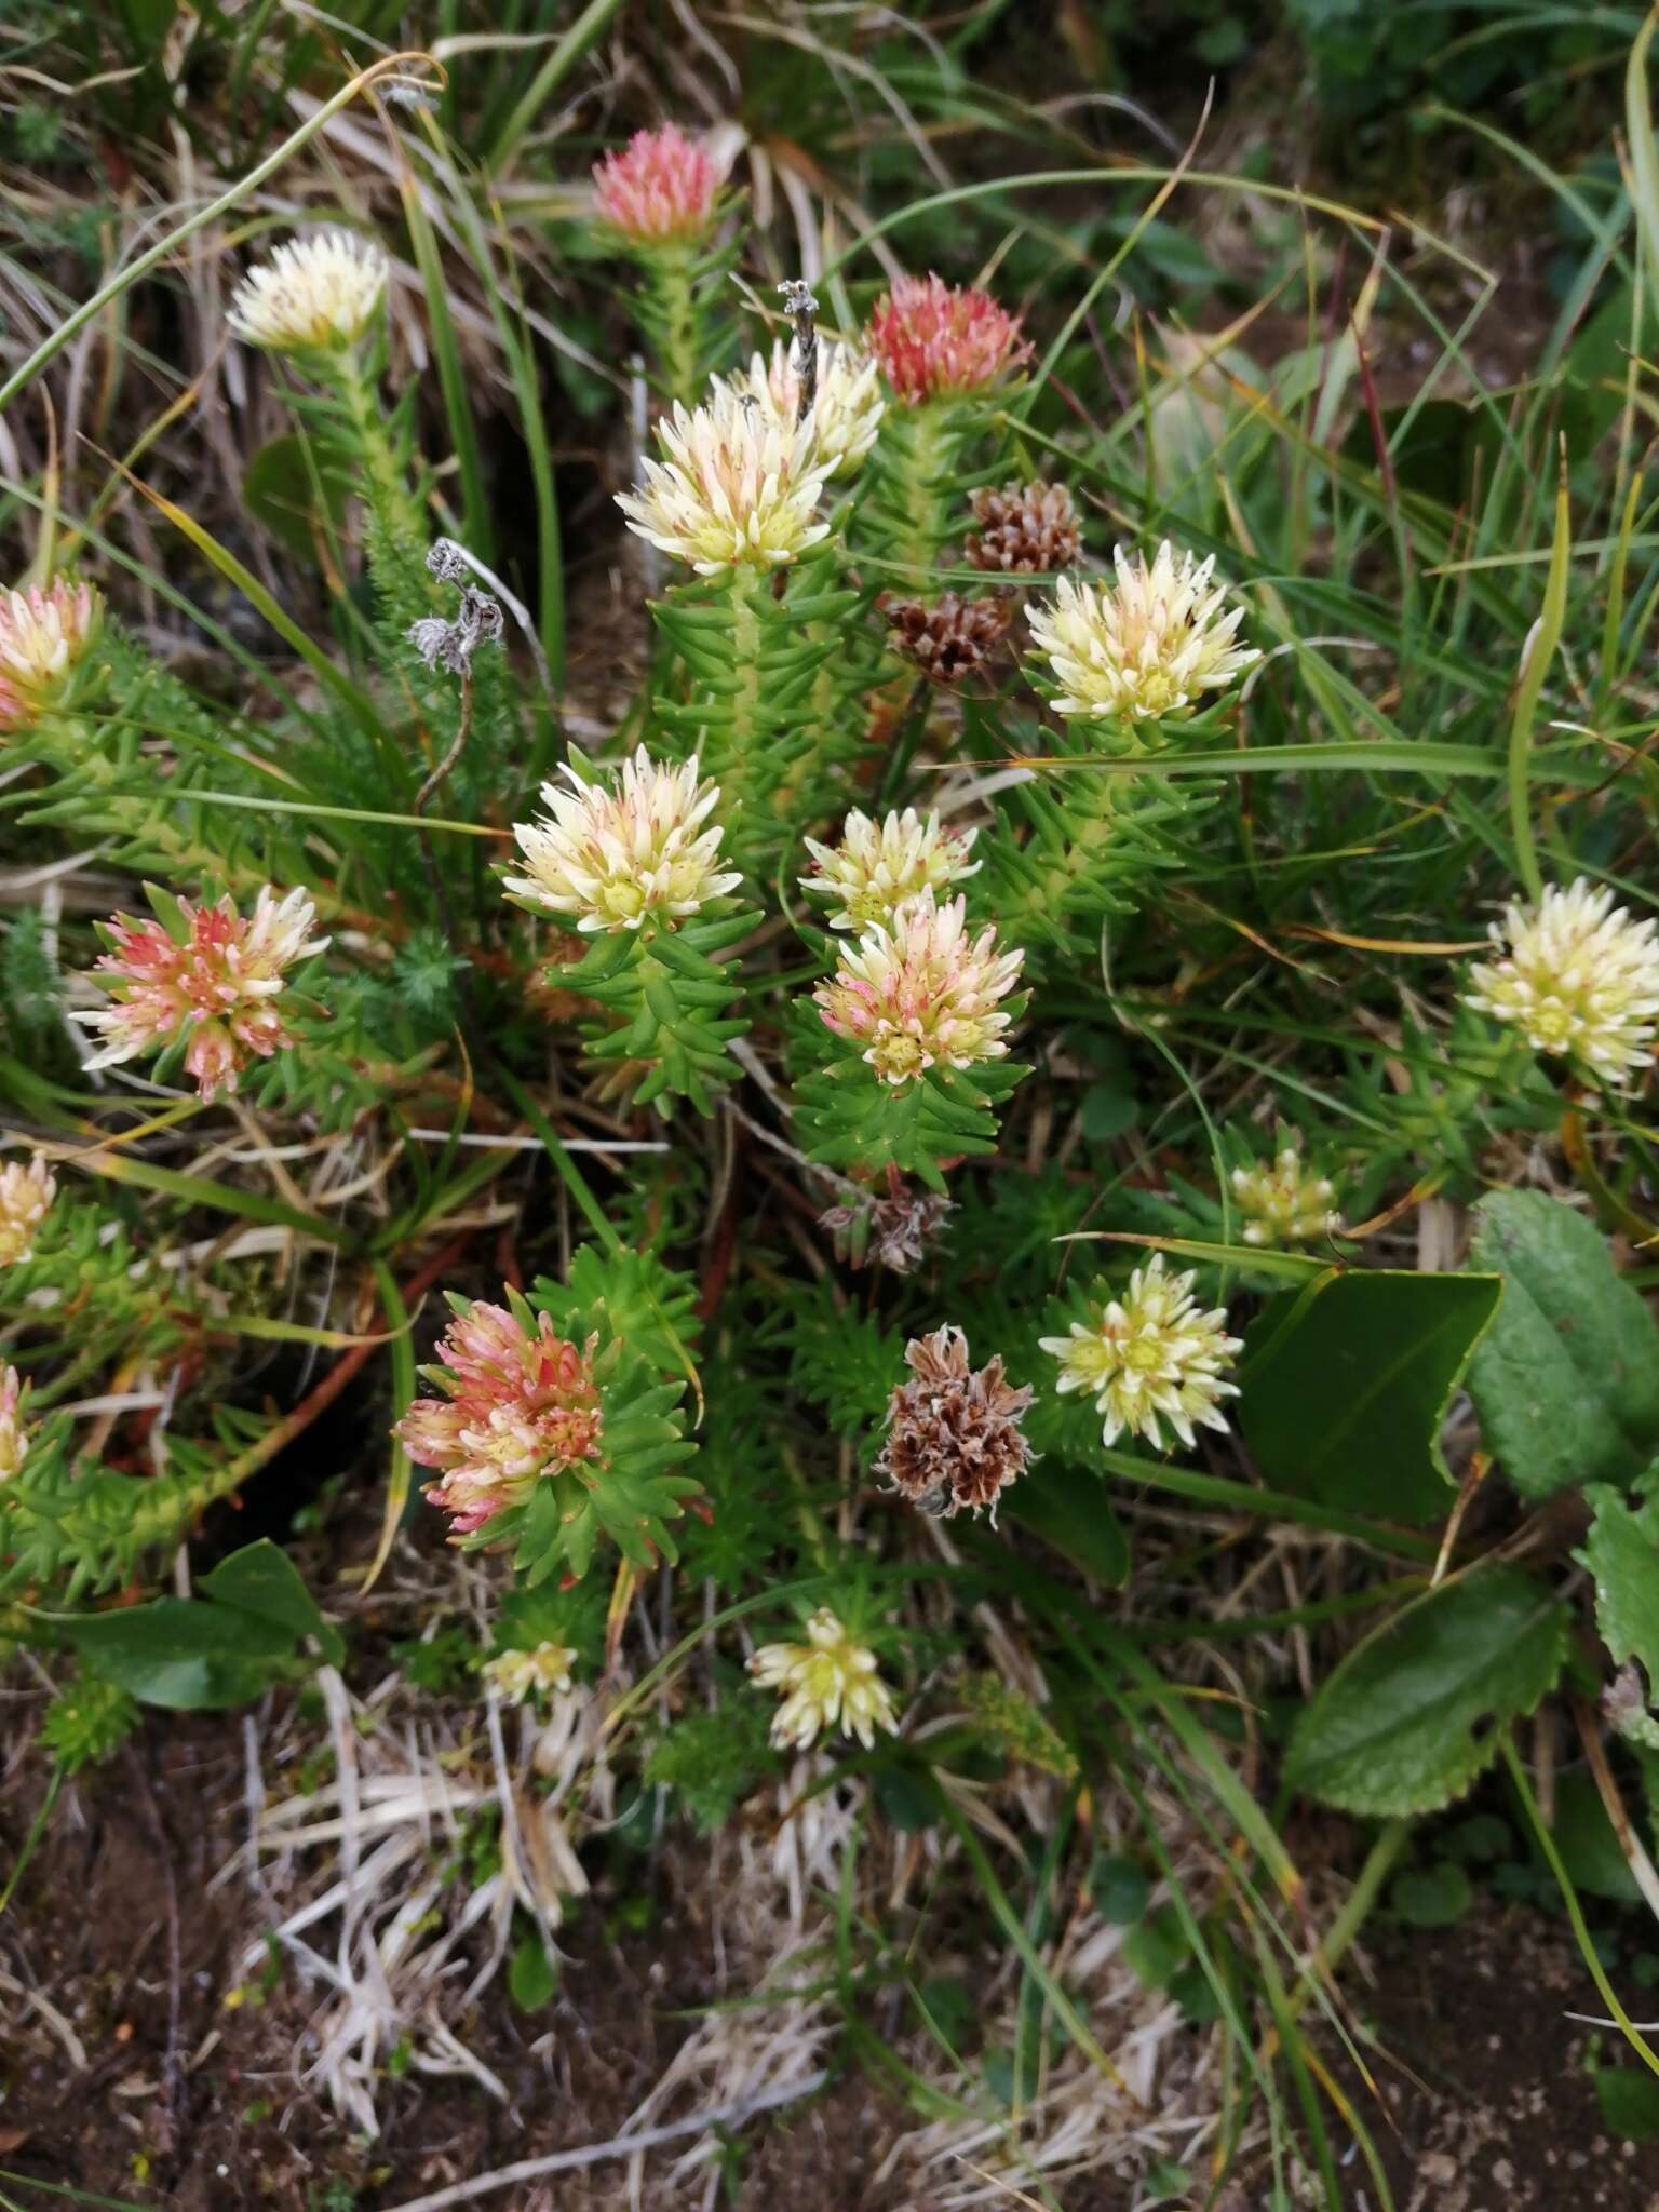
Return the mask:
<svg viewBox="0 0 1659 2212">
<path fill-rule="evenodd" d="M 1121 1298 L 1091 1303 L 1088 1318 L 1073 1321 L 1068 1336 L 1040 1343 L 1060 1360 L 1055 1387 L 1088 1391 L 1106 1416 L 1106 1444 L 1128 1431 L 1161 1449 L 1161 1420 L 1188 1451 L 1194 1422 L 1225 1433 L 1221 1400 L 1239 1396 L 1225 1369 L 1243 1338 L 1228 1336 L 1223 1307 L 1199 1312 L 1192 1276 L 1164 1274 L 1161 1252 L 1135 1270 Z"/>
</svg>

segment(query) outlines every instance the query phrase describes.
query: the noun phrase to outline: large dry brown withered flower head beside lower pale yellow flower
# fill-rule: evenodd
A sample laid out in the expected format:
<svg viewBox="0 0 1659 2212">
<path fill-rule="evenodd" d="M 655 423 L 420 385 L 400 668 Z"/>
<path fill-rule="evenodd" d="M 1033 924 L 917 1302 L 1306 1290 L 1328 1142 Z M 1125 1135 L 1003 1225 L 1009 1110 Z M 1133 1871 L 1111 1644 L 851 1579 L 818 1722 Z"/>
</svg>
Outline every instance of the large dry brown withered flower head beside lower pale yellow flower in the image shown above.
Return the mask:
<svg viewBox="0 0 1659 2212">
<path fill-rule="evenodd" d="M 1002 1354 L 969 1369 L 967 1336 L 949 1323 L 905 1345 L 909 1383 L 887 1407 L 876 1473 L 927 1513 L 980 1513 L 995 1524 L 998 1498 L 1033 1460 L 1020 1429 L 1031 1387 L 1013 1389 Z"/>
</svg>

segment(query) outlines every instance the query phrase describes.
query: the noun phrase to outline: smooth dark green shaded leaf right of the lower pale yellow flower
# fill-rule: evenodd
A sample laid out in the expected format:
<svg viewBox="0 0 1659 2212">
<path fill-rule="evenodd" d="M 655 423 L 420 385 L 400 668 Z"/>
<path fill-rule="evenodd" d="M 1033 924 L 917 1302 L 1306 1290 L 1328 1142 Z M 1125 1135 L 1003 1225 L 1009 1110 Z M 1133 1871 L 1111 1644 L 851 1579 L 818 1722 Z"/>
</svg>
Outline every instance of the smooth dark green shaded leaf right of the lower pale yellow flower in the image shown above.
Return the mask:
<svg viewBox="0 0 1659 2212">
<path fill-rule="evenodd" d="M 1502 1285 L 1354 1267 L 1252 1329 L 1239 1427 L 1267 1482 L 1429 1522 L 1451 1504 L 1440 1422 Z"/>
</svg>

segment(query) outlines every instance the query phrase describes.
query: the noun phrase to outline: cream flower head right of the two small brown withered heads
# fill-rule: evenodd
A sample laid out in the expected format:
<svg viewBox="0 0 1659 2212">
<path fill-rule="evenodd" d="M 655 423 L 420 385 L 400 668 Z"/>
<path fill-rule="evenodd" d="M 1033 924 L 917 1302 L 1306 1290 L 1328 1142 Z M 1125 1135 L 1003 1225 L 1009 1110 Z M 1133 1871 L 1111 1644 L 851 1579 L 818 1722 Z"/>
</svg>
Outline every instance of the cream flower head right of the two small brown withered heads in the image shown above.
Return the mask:
<svg viewBox="0 0 1659 2212">
<path fill-rule="evenodd" d="M 1214 555 L 1194 562 L 1166 538 L 1150 568 L 1121 546 L 1115 564 L 1115 584 L 1062 575 L 1053 602 L 1029 608 L 1031 637 L 1060 686 L 1060 714 L 1175 721 L 1261 659 L 1234 644 L 1243 604 L 1230 606 L 1225 584 L 1214 582 Z"/>
</svg>

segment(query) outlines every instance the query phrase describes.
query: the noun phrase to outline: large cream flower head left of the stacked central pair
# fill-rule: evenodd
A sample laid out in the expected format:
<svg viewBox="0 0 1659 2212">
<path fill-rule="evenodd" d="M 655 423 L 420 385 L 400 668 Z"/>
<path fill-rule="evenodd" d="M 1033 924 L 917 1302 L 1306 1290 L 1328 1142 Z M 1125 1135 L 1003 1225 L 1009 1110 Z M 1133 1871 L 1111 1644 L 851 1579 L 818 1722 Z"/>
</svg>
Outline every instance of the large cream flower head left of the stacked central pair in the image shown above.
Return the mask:
<svg viewBox="0 0 1659 2212">
<path fill-rule="evenodd" d="M 641 745 L 611 783 L 542 785 L 551 821 L 515 823 L 524 874 L 507 876 L 520 905 L 575 918 L 586 933 L 677 922 L 737 889 L 721 872 L 723 830 L 708 823 L 719 785 L 697 781 L 697 757 L 679 768 Z M 703 827 L 708 823 L 708 827 Z"/>
</svg>

